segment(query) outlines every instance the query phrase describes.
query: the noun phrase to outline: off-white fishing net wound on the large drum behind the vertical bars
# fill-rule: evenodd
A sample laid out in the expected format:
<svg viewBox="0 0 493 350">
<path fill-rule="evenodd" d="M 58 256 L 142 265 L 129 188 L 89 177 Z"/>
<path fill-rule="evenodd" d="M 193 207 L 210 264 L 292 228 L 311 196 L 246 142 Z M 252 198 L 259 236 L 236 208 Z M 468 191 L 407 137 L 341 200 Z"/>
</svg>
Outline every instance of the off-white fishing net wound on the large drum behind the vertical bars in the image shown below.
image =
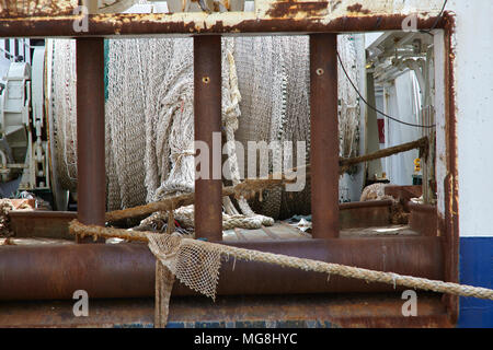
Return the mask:
<svg viewBox="0 0 493 350">
<path fill-rule="evenodd" d="M 194 188 L 192 43 L 192 38 L 108 42 L 108 210 Z M 349 35 L 339 37 L 339 51 L 358 84 L 355 43 Z M 64 187 L 73 190 L 77 187 L 74 42 L 55 40 L 53 55 L 56 156 L 62 165 L 59 175 Z M 339 86 L 341 153 L 347 156 L 357 152 L 357 97 L 341 71 Z M 228 140 L 240 141 L 245 151 L 249 140 L 306 141 L 309 156 L 309 115 L 307 36 L 222 39 L 222 118 Z M 230 160 L 239 155 L 234 148 L 227 151 Z M 296 160 L 296 154 L 293 159 Z M 270 156 L 262 161 L 268 162 L 272 171 L 279 160 Z M 233 184 L 242 179 L 240 173 L 246 175 L 239 164 L 230 164 Z M 251 205 L 253 210 L 243 199 L 225 200 L 228 214 L 257 212 L 278 218 L 307 213 L 310 184 L 300 192 L 270 190 L 262 202 Z"/>
</svg>

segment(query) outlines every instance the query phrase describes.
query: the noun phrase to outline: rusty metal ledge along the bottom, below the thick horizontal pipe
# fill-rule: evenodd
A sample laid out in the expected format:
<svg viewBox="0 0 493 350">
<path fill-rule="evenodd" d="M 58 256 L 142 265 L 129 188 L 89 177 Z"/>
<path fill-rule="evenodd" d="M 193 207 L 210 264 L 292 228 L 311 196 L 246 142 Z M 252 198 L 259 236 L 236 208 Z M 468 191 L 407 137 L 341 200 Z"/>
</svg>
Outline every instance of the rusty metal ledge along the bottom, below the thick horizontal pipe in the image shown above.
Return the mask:
<svg viewBox="0 0 493 350">
<path fill-rule="evenodd" d="M 419 314 L 402 316 L 401 293 L 172 298 L 170 327 L 451 327 L 439 295 L 417 292 Z M 153 299 L 3 302 L 0 327 L 153 327 Z"/>
</svg>

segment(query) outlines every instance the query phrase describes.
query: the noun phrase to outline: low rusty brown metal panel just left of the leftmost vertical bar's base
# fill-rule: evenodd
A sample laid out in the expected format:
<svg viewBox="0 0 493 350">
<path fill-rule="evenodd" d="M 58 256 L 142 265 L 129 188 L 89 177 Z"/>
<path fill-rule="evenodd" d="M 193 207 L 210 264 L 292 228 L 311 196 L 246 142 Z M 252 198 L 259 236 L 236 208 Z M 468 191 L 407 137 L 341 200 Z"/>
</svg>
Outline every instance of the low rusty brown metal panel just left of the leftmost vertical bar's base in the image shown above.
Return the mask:
<svg viewBox="0 0 493 350">
<path fill-rule="evenodd" d="M 12 210 L 9 217 L 10 228 L 16 237 L 73 240 L 68 223 L 77 219 L 77 212 Z"/>
</svg>

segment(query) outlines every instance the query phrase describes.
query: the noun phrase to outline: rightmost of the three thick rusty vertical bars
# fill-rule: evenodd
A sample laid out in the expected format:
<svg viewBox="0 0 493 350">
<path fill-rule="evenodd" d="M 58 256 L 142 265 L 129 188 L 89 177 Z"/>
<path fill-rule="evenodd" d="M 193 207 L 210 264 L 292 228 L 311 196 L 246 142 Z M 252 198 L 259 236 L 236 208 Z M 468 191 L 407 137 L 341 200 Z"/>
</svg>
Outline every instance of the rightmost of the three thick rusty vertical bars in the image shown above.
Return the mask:
<svg viewBox="0 0 493 350">
<path fill-rule="evenodd" d="M 337 36 L 310 35 L 313 238 L 339 237 Z"/>
</svg>

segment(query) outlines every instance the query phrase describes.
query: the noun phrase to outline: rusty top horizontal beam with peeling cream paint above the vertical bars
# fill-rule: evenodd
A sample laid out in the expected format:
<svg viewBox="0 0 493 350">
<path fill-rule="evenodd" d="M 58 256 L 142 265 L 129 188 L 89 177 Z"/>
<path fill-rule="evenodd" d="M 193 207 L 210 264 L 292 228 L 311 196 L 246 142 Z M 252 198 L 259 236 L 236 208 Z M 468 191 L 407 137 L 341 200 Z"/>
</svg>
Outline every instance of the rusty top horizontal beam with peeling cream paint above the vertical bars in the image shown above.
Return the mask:
<svg viewBox="0 0 493 350">
<path fill-rule="evenodd" d="M 0 37 L 112 37 L 133 35 L 199 35 L 199 34 L 307 34 L 371 31 L 401 31 L 405 14 L 365 14 L 337 18 L 301 15 L 298 18 L 256 18 L 233 13 L 221 16 L 204 14 L 91 14 L 88 31 L 74 25 L 81 16 L 42 16 L 0 19 Z M 432 27 L 436 16 L 417 16 L 416 28 Z M 445 25 L 439 20 L 436 28 Z"/>
</svg>

